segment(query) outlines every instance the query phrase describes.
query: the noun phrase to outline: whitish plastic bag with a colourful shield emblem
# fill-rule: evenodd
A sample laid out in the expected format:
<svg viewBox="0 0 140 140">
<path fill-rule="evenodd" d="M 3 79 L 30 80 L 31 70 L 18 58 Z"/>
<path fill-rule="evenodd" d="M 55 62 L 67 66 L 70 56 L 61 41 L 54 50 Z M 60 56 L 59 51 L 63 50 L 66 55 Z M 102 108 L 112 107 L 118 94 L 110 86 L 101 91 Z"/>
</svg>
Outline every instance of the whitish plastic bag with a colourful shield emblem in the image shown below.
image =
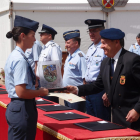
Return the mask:
<svg viewBox="0 0 140 140">
<path fill-rule="evenodd" d="M 38 62 L 39 78 L 41 87 L 63 87 L 60 61 Z"/>
</svg>

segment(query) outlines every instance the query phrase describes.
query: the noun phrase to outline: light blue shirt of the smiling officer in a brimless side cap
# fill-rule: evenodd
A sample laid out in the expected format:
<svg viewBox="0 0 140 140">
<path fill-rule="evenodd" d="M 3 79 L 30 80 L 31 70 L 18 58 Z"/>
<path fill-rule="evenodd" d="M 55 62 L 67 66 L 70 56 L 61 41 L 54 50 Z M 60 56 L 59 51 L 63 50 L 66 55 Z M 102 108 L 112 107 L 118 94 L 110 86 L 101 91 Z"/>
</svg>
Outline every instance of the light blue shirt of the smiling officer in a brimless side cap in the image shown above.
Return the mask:
<svg viewBox="0 0 140 140">
<path fill-rule="evenodd" d="M 69 54 L 64 65 L 63 86 L 83 85 L 85 78 L 85 54 L 78 48 L 72 55 Z"/>
</svg>

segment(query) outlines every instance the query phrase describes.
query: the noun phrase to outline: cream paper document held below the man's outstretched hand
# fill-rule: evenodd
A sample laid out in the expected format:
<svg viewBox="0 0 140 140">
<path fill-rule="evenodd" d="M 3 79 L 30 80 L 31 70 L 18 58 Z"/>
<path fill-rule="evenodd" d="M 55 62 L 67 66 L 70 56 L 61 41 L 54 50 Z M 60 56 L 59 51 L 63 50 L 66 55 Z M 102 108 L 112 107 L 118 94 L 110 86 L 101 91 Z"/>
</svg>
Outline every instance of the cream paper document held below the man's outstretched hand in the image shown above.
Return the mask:
<svg viewBox="0 0 140 140">
<path fill-rule="evenodd" d="M 83 98 L 81 98 L 81 97 L 79 97 L 75 94 L 72 94 L 72 93 L 69 93 L 69 94 L 68 93 L 49 93 L 48 96 L 55 96 L 55 97 L 58 97 L 61 100 L 65 100 L 65 101 L 68 101 L 70 103 L 86 101 L 85 99 L 83 99 Z M 61 103 L 59 103 L 59 104 L 61 104 Z"/>
</svg>

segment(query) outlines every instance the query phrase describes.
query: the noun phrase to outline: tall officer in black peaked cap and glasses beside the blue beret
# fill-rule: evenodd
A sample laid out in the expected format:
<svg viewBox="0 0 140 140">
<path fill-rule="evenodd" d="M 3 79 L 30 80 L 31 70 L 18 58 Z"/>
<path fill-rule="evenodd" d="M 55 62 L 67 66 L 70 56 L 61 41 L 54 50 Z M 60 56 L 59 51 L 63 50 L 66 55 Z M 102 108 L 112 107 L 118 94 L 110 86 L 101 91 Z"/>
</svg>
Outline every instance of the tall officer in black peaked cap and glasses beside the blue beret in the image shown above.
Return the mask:
<svg viewBox="0 0 140 140">
<path fill-rule="evenodd" d="M 97 79 L 100 72 L 100 66 L 103 59 L 106 57 L 104 50 L 101 49 L 100 31 L 103 30 L 105 20 L 87 19 L 85 24 L 88 25 L 88 33 L 93 42 L 88 48 L 86 54 L 87 70 L 85 74 L 86 83 L 92 83 Z M 111 121 L 111 107 L 103 104 L 102 96 L 106 96 L 105 90 L 98 94 L 86 96 L 87 114 Z"/>
</svg>

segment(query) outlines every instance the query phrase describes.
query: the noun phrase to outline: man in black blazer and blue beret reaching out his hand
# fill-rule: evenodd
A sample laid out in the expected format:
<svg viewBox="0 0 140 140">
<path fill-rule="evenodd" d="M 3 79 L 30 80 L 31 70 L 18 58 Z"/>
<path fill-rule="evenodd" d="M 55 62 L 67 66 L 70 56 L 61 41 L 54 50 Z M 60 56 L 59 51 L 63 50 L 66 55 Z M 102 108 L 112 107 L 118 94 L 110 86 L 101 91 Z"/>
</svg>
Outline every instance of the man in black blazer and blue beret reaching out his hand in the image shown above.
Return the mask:
<svg viewBox="0 0 140 140">
<path fill-rule="evenodd" d="M 79 96 L 96 94 L 105 89 L 112 106 L 113 123 L 140 131 L 140 56 L 125 50 L 125 33 L 110 28 L 100 32 L 105 58 L 95 82 L 68 86 Z"/>
</svg>

